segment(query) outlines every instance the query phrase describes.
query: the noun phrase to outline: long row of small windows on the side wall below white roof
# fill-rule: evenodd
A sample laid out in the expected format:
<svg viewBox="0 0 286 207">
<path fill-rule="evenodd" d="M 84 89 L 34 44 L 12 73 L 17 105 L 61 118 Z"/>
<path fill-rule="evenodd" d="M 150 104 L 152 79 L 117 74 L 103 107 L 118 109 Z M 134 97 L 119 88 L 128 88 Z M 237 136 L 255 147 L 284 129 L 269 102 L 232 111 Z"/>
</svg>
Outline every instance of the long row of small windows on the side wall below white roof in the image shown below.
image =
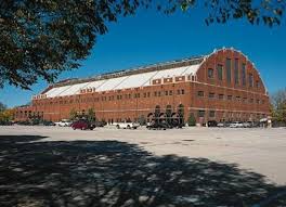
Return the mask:
<svg viewBox="0 0 286 207">
<path fill-rule="evenodd" d="M 51 104 L 73 104 L 73 103 L 88 103 L 88 102 L 100 102 L 100 101 L 115 101 L 115 100 L 130 100 L 130 99 L 140 99 L 140 98 L 158 98 L 158 96 L 168 96 L 168 95 L 184 95 L 184 89 L 165 90 L 165 91 L 154 91 L 154 92 L 143 92 L 143 93 L 129 93 L 129 94 L 118 94 L 109 96 L 96 96 L 96 98 L 83 98 L 83 99 L 69 99 L 69 100 L 60 100 L 60 101 L 50 101 L 46 103 L 37 102 L 35 105 L 51 105 Z"/>
</svg>

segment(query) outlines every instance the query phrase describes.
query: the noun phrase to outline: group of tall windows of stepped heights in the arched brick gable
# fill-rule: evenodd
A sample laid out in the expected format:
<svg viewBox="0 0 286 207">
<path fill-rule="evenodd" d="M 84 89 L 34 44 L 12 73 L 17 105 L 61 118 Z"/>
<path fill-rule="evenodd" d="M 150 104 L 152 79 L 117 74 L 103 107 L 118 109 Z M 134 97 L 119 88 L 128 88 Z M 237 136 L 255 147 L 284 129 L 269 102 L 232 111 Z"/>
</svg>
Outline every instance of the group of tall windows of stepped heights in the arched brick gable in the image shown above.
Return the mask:
<svg viewBox="0 0 286 207">
<path fill-rule="evenodd" d="M 233 62 L 232 59 L 225 60 L 225 72 L 223 65 L 218 64 L 216 68 L 217 77 L 214 77 L 214 69 L 208 68 L 208 78 L 210 79 L 217 78 L 218 80 L 226 79 L 227 83 L 231 83 L 233 80 L 236 86 L 243 86 L 243 87 L 246 86 L 256 87 L 256 88 L 261 87 L 260 80 L 255 81 L 253 74 L 247 72 L 246 63 L 240 63 L 238 59 L 235 59 L 234 63 L 232 62 Z"/>
</svg>

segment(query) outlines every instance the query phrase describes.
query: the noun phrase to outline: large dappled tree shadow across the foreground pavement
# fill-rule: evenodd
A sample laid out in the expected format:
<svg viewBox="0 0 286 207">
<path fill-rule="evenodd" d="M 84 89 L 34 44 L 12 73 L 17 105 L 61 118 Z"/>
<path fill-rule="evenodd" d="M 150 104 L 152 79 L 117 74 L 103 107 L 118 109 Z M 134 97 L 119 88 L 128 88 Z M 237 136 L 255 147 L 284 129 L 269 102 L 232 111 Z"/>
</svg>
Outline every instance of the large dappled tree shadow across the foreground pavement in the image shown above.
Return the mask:
<svg viewBox="0 0 286 207">
<path fill-rule="evenodd" d="M 0 135 L 1 207 L 286 206 L 286 195 L 276 196 L 285 186 L 234 164 L 154 156 L 117 141 L 43 138 Z"/>
</svg>

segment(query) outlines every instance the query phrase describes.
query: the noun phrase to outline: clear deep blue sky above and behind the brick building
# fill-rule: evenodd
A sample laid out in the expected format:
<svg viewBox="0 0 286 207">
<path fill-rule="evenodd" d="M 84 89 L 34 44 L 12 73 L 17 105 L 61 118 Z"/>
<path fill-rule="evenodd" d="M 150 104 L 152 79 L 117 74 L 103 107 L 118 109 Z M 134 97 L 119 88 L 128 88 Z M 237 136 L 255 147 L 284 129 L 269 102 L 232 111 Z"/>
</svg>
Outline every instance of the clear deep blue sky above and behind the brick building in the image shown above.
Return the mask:
<svg viewBox="0 0 286 207">
<path fill-rule="evenodd" d="M 270 93 L 286 87 L 286 25 L 269 28 L 246 21 L 207 26 L 204 10 L 164 15 L 142 10 L 135 16 L 108 25 L 109 31 L 98 38 L 91 55 L 65 78 L 89 77 L 145 64 L 208 54 L 213 49 L 233 47 L 245 53 L 259 69 Z M 39 81 L 31 91 L 5 86 L 0 102 L 8 106 L 26 104 L 32 94 L 48 86 Z"/>
</svg>

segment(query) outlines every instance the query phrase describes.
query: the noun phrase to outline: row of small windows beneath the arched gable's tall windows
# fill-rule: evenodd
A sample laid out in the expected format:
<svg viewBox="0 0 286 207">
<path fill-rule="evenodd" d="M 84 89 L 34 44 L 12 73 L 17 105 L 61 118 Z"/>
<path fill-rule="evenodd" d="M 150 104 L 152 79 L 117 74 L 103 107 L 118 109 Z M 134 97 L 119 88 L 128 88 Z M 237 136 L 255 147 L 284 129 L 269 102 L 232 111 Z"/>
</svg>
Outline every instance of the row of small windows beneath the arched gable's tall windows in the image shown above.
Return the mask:
<svg viewBox="0 0 286 207">
<path fill-rule="evenodd" d="M 205 98 L 207 95 L 205 95 L 205 91 L 197 91 L 197 96 L 198 98 Z M 246 98 L 246 96 L 240 96 L 240 95 L 225 95 L 223 93 L 219 93 L 216 94 L 213 92 L 209 92 L 208 93 L 208 99 L 209 100 L 227 100 L 227 101 L 237 101 L 237 102 L 242 102 L 242 103 L 255 103 L 255 99 L 253 98 Z M 264 104 L 265 101 L 264 100 L 260 100 L 260 99 L 256 99 L 256 103 L 257 104 Z"/>
</svg>

